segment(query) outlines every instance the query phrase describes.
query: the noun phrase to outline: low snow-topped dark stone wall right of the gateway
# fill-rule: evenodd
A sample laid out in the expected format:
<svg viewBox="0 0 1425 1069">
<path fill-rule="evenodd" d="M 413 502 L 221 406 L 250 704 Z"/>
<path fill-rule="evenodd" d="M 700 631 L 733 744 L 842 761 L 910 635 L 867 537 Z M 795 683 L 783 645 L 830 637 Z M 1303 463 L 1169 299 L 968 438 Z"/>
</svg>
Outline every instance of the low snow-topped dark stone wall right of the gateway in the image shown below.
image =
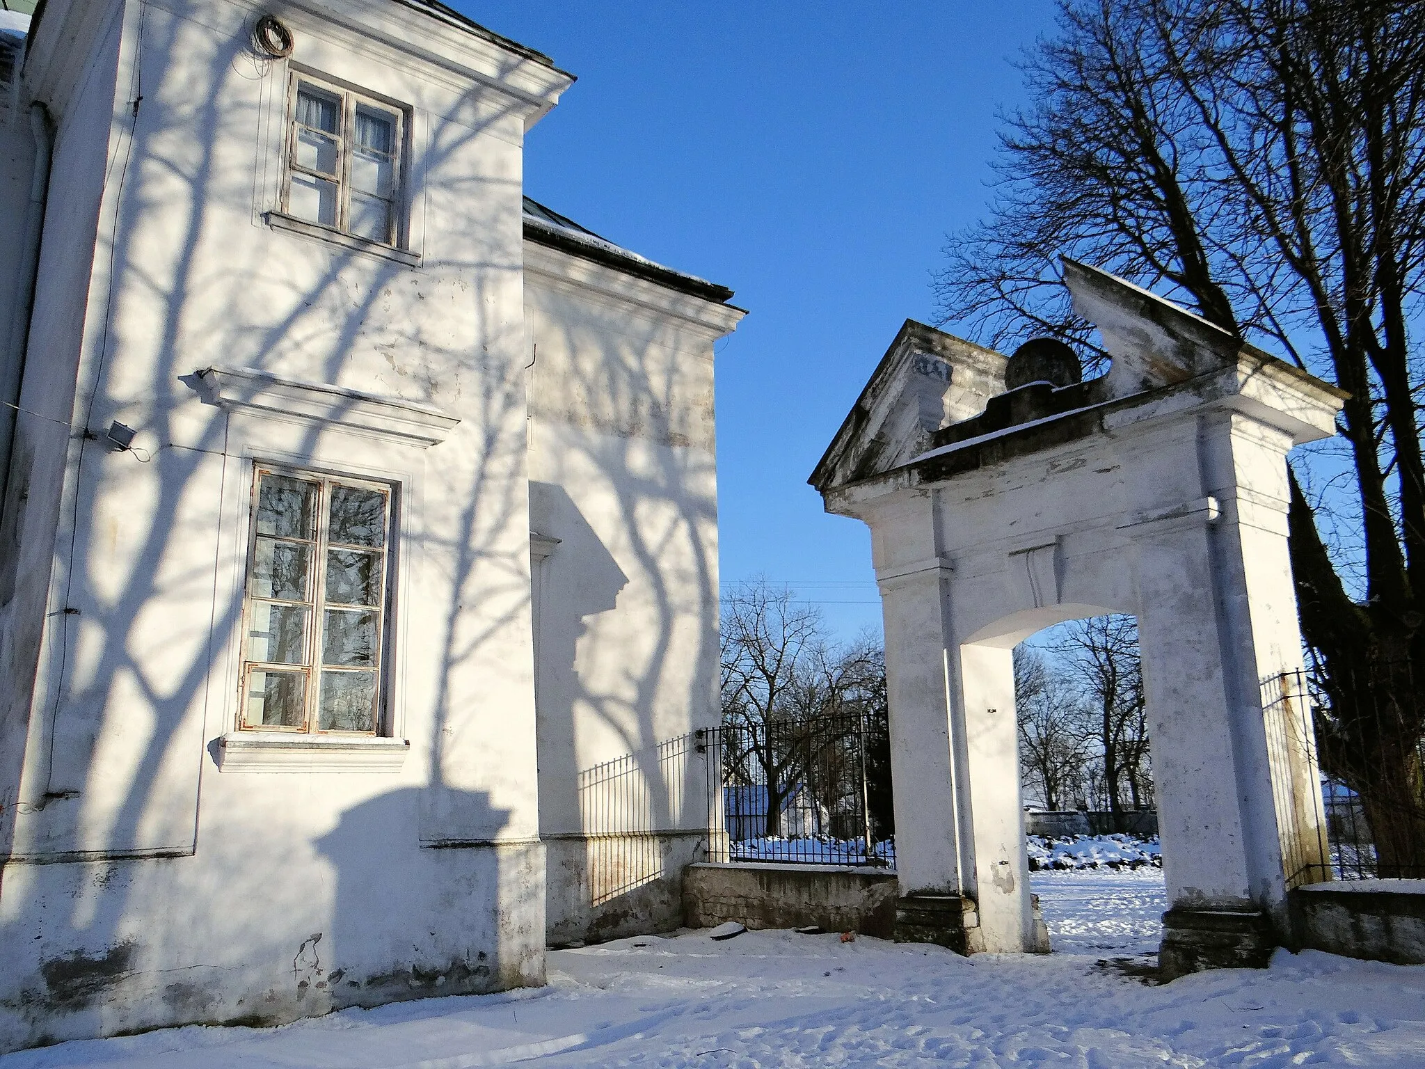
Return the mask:
<svg viewBox="0 0 1425 1069">
<path fill-rule="evenodd" d="M 1301 946 L 1425 965 L 1425 879 L 1340 879 L 1288 894 Z"/>
</svg>

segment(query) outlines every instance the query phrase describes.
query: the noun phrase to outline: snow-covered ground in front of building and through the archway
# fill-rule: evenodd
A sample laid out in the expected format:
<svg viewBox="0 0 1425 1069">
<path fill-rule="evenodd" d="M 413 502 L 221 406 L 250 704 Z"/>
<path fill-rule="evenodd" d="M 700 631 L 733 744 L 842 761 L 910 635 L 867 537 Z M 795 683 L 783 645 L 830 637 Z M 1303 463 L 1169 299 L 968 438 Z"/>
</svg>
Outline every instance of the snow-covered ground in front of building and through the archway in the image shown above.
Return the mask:
<svg viewBox="0 0 1425 1069">
<path fill-rule="evenodd" d="M 1042 872 L 1033 887 L 1060 951 L 1047 958 L 684 932 L 553 952 L 540 991 L 66 1043 L 0 1069 L 1425 1065 L 1425 966 L 1278 952 L 1265 971 L 1147 986 L 1099 962 L 1157 945 L 1157 869 Z"/>
</svg>

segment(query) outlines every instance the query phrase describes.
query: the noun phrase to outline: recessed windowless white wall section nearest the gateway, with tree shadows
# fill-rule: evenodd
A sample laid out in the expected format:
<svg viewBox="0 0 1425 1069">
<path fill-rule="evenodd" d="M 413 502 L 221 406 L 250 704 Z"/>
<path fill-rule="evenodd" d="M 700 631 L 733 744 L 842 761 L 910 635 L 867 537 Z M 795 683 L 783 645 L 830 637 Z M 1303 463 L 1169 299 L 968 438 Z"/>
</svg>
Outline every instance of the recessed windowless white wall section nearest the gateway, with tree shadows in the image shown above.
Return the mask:
<svg viewBox="0 0 1425 1069">
<path fill-rule="evenodd" d="M 741 312 L 526 244 L 556 944 L 681 922 L 718 706 L 712 344 Z M 680 740 L 670 743 L 670 740 Z M 650 834 L 656 832 L 656 834 Z"/>
</svg>

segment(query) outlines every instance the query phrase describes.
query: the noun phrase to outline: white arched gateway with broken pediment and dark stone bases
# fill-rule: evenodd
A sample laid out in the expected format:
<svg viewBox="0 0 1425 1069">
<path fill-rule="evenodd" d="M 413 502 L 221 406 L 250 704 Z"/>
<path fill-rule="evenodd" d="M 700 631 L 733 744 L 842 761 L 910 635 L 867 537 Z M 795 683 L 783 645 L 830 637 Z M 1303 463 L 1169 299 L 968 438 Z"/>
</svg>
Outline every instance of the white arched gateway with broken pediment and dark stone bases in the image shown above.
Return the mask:
<svg viewBox="0 0 1425 1069">
<path fill-rule="evenodd" d="M 1077 382 L 1053 345 L 1006 359 L 906 322 L 811 477 L 872 534 L 898 938 L 1047 949 L 1010 653 L 1047 624 L 1133 613 L 1171 902 L 1161 968 L 1263 964 L 1290 942 L 1290 874 L 1321 861 L 1317 768 L 1302 740 L 1273 740 L 1261 697 L 1301 667 L 1285 456 L 1332 433 L 1344 395 L 1113 275 L 1066 261 L 1064 282 L 1107 375 Z"/>
</svg>

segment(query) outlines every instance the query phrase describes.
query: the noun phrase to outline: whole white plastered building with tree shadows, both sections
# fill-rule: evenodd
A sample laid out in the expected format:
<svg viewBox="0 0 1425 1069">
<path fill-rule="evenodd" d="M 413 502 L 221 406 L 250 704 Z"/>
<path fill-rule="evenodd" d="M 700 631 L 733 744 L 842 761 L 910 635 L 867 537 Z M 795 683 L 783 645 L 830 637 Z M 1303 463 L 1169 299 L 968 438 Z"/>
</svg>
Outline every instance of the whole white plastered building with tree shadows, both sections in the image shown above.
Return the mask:
<svg viewBox="0 0 1425 1069">
<path fill-rule="evenodd" d="M 426 0 L 47 0 L 11 58 L 0 1050 L 674 926 L 742 314 L 524 200 L 571 76 Z"/>
</svg>

